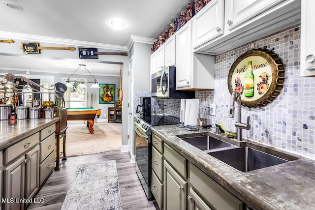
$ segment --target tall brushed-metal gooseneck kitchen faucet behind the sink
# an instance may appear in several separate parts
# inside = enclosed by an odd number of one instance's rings
[[[237,122],[235,122],[235,126],[236,126],[236,139],[237,141],[242,141],[243,139],[243,135],[242,135],[242,129],[246,129],[249,130],[251,128],[250,125],[250,116],[247,117],[247,123],[242,123],[242,103],[241,103],[241,93],[237,90],[234,90],[232,92],[232,97],[231,97],[231,104],[230,104],[230,108],[229,108],[229,113],[228,113],[228,117],[229,118],[234,118],[234,112],[235,112],[235,107],[234,107],[234,102],[235,99],[237,100]]]

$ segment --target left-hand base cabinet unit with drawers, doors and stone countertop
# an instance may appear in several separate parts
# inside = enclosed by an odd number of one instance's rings
[[[58,121],[0,120],[0,209],[26,209],[53,172]]]

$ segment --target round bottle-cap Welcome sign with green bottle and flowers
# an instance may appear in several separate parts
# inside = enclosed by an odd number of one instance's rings
[[[230,93],[241,93],[242,105],[261,107],[272,102],[284,85],[284,64],[267,49],[247,51],[234,61],[227,78]]]

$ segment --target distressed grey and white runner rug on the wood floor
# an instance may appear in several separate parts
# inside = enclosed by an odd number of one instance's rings
[[[122,210],[116,161],[78,165],[62,210]]]

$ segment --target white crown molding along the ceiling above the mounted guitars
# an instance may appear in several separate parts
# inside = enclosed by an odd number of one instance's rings
[[[6,31],[0,31],[0,37],[10,37],[10,39],[32,40],[32,41],[36,40],[38,42],[48,42],[48,43],[55,43],[55,44],[65,44],[65,45],[73,45],[73,46],[84,46],[84,47],[104,48],[104,49],[110,49],[110,50],[128,51],[127,47],[122,46],[122,45],[111,45],[111,44],[86,42],[86,41],[79,41],[79,40],[72,40],[72,39],[61,39],[61,38],[54,38],[54,37],[48,37],[48,36],[38,36],[38,35],[13,33],[13,32],[6,32]]]

